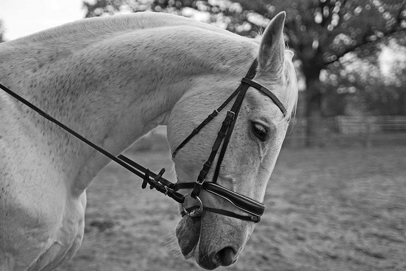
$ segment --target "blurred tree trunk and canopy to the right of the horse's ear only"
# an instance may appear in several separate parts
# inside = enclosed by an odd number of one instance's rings
[[[306,79],[306,116],[309,145],[320,133],[324,95],[320,73],[339,66],[348,53],[365,57],[378,49],[380,41],[406,29],[406,1],[378,0],[278,1],[287,11],[286,34],[303,65]]]

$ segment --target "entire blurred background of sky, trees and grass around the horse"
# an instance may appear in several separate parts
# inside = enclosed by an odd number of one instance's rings
[[[0,0],[0,40],[143,10],[248,37],[287,13],[296,118],[264,218],[237,264],[220,270],[406,270],[406,0]],[[170,169],[165,133],[127,155]],[[92,182],[83,245],[59,270],[200,270],[177,252],[176,204],[134,179],[110,164]]]

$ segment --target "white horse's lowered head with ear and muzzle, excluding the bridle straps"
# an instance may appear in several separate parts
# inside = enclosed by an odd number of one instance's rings
[[[258,202],[264,199],[266,185],[297,101],[293,53],[285,50],[283,39],[284,20],[284,12],[277,14],[260,39],[256,40],[255,59],[258,65],[252,80],[278,97],[286,108],[286,114],[269,96],[249,87],[216,178],[219,185]],[[200,77],[176,103],[167,125],[172,152],[188,132],[236,90],[244,74],[237,75],[233,68],[228,67],[230,71],[224,69],[224,73],[217,74],[214,79],[212,75]],[[226,109],[230,107],[231,104],[228,104]],[[179,183],[196,180],[212,151],[213,142],[226,116],[224,111],[205,125],[173,157]],[[208,181],[215,175],[218,157],[219,153],[207,173]],[[203,206],[246,215],[246,212],[236,208],[227,199],[205,190],[200,192],[199,199]],[[188,198],[185,203],[186,206],[193,204],[196,201],[192,198]],[[176,227],[176,236],[186,258],[194,257],[201,267],[212,270],[237,261],[254,225],[252,221],[203,211],[199,216],[183,216]]]

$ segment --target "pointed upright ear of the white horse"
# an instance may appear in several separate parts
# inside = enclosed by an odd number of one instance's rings
[[[278,73],[282,67],[285,52],[283,39],[285,17],[285,11],[279,12],[262,34],[258,54],[259,73]]]

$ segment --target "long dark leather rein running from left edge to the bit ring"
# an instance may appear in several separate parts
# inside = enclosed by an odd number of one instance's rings
[[[132,161],[128,157],[125,157],[124,155],[119,155],[118,157],[115,157],[114,155],[112,155],[111,153],[106,151],[105,149],[103,149],[100,146],[97,146],[96,144],[94,144],[91,141],[87,140],[86,138],[81,136],[79,133],[75,132],[74,130],[72,130],[71,128],[69,128],[68,126],[63,124],[62,122],[60,122],[57,119],[55,119],[54,117],[52,117],[51,115],[45,113],[43,110],[41,110],[40,108],[38,108],[37,106],[35,106],[31,102],[29,102],[28,100],[24,99],[23,97],[21,97],[17,93],[15,93],[12,90],[8,89],[7,87],[2,85],[1,83],[0,83],[0,89],[4,90],[6,93],[11,95],[15,99],[19,100],[20,102],[22,102],[23,104],[25,104],[26,106],[28,106],[29,108],[31,108],[32,110],[34,110],[35,112],[37,112],[38,114],[40,114],[41,116],[46,118],[47,120],[55,123],[56,125],[58,125],[62,129],[67,131],[68,133],[70,133],[73,136],[77,137],[82,142],[86,143],[87,145],[89,145],[90,147],[92,147],[93,149],[98,151],[99,153],[101,153],[104,156],[108,157],[109,159],[113,160],[114,162],[116,162],[120,166],[124,167],[125,169],[131,171],[132,173],[134,173],[138,177],[141,177],[144,180],[143,185],[142,185],[143,188],[145,188],[147,186],[147,183],[148,183],[148,184],[150,184],[151,189],[155,188],[158,191],[160,191],[161,193],[167,195],[170,198],[173,198],[175,201],[177,201],[179,203],[184,202],[185,198],[181,193],[176,192],[176,190],[171,189],[171,188],[168,187],[168,185],[170,185],[170,184],[173,185],[173,183],[166,180],[166,179],[164,179],[164,178],[162,178],[162,174],[165,172],[165,169],[162,169],[159,174],[155,174],[155,173],[151,172],[149,169],[146,169],[143,166],[141,166],[140,164],[137,164],[136,162]]]

